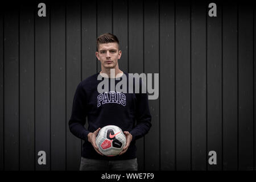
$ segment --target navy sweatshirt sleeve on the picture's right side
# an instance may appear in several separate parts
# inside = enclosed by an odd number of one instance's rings
[[[141,84],[140,87],[144,86]],[[133,136],[132,142],[137,140],[148,133],[151,127],[151,114],[148,106],[148,95],[147,93],[142,93],[140,88],[140,93],[135,93],[136,101],[136,120],[137,125],[131,130],[130,134]]]

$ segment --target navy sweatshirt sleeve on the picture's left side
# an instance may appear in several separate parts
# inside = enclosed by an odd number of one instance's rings
[[[76,137],[87,140],[89,131],[85,129],[86,121],[86,92],[80,84],[77,86],[73,99],[71,118],[69,119],[69,130]]]

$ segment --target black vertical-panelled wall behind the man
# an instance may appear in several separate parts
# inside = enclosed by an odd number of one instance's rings
[[[79,169],[82,141],[68,121],[77,85],[101,70],[94,53],[105,32],[119,38],[122,71],[159,73],[152,127],[137,140],[139,170],[255,168],[253,4],[43,2],[46,17],[40,2],[1,7],[1,170]],[[208,16],[210,2],[217,17]]]

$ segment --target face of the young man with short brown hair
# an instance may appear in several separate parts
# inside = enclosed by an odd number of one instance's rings
[[[117,43],[106,43],[99,45],[95,55],[97,59],[101,61],[101,65],[104,68],[115,68],[122,52],[118,50]]]

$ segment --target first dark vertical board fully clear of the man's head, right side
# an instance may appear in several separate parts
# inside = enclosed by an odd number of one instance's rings
[[[128,1],[129,73],[143,73],[143,1]],[[136,140],[138,169],[144,170],[144,137]]]

